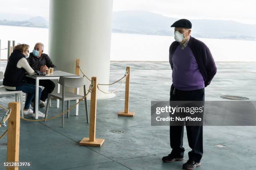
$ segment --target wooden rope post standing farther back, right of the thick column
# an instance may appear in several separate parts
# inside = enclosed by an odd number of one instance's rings
[[[126,71],[129,73],[125,80],[125,110],[118,112],[118,116],[133,117],[134,112],[129,112],[129,90],[130,90],[130,67],[126,67]]]

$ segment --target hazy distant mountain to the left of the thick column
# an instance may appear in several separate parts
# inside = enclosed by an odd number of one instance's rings
[[[49,24],[43,17],[38,16],[23,21],[0,20],[0,25],[48,28]]]

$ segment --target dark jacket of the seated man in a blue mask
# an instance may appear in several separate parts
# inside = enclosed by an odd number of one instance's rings
[[[48,68],[51,67],[56,70],[56,66],[51,62],[51,58],[47,54],[42,53],[41,57],[38,58],[31,52],[27,60],[33,70],[40,70],[42,65],[46,65]]]

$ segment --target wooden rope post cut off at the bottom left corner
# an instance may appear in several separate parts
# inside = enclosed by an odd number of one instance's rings
[[[7,136],[7,161],[19,161],[20,147],[20,102],[10,102],[9,108],[12,107],[12,112],[8,119],[8,136]],[[18,170],[17,167],[7,167],[6,170]]]

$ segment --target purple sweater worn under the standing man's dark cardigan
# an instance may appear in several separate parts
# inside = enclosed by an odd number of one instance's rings
[[[195,56],[189,46],[176,48],[172,57],[172,82],[179,90],[198,90],[205,87]]]

